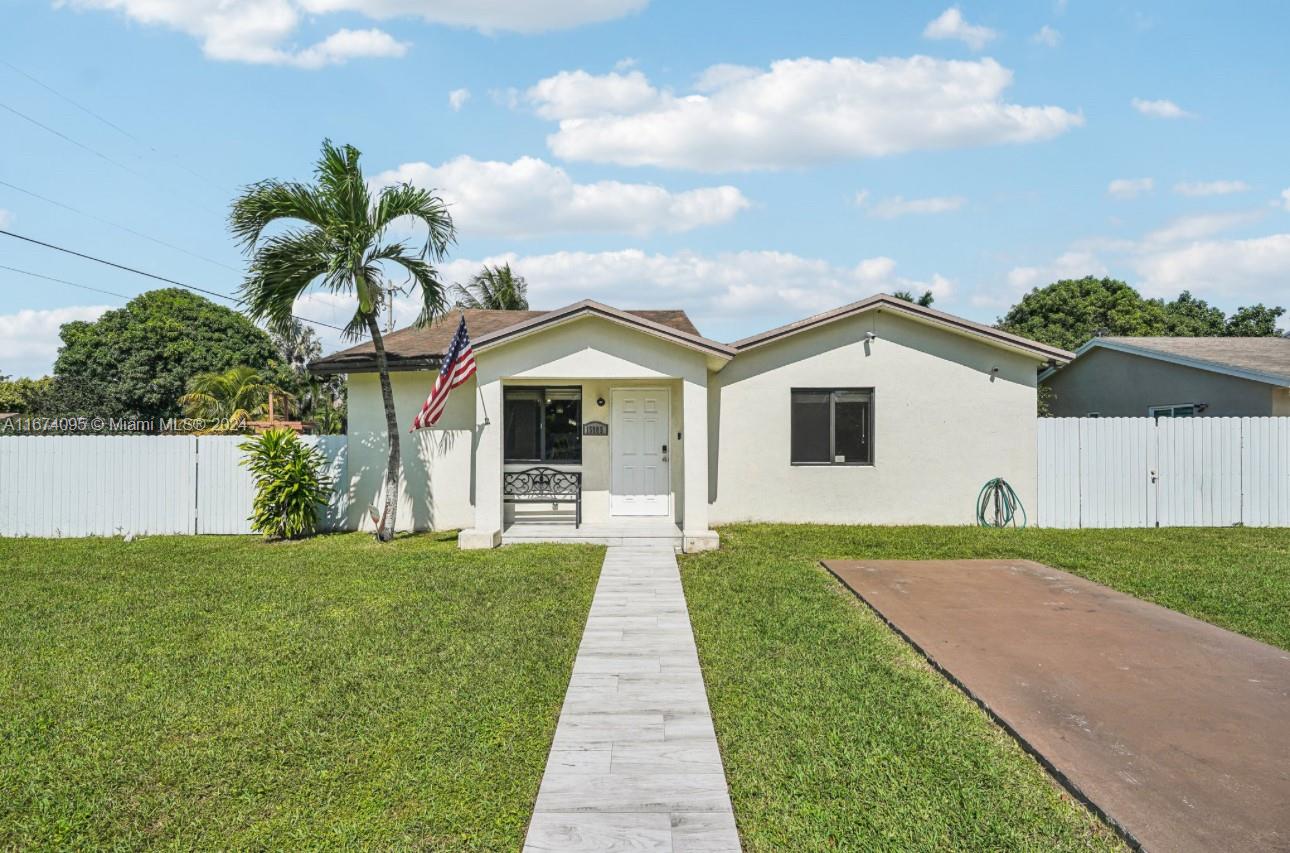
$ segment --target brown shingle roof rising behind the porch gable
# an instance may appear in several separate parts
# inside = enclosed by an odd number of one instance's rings
[[[453,310],[450,314],[439,317],[428,326],[408,326],[397,329],[386,336],[386,357],[391,369],[415,370],[421,368],[437,366],[448,346],[457,333],[457,323],[461,314],[466,315],[466,328],[470,329],[471,339],[477,341],[494,332],[508,329],[513,325],[541,317],[550,311],[491,311],[484,308]],[[698,337],[699,330],[690,323],[685,311],[626,311],[660,325],[670,326],[686,334]],[[357,346],[334,352],[319,359],[310,365],[313,373],[360,373],[375,369],[375,350],[370,341]]]

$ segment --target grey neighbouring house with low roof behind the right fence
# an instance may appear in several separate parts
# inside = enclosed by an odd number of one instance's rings
[[[1057,417],[1290,416],[1290,338],[1094,338],[1040,383]]]

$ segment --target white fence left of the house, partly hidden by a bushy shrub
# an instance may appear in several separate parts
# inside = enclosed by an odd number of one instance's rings
[[[250,533],[246,436],[0,437],[0,536]],[[337,488],[319,525],[344,524],[346,436],[302,436]]]

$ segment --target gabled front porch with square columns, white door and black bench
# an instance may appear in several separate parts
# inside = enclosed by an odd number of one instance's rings
[[[724,345],[586,311],[481,347],[475,525],[461,546],[716,547],[708,374],[729,360]]]

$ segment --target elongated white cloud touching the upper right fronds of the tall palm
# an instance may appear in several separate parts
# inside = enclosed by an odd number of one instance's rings
[[[671,192],[649,183],[574,183],[564,169],[537,157],[499,163],[461,156],[439,166],[406,163],[375,181],[436,188],[452,205],[462,234],[510,237],[689,231],[729,222],[749,205],[731,186]]]

